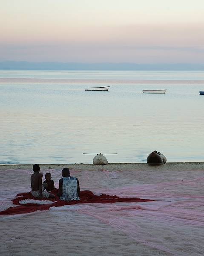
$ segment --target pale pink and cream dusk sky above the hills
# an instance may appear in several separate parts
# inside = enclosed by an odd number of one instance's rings
[[[0,0],[0,62],[204,63],[204,0]]]

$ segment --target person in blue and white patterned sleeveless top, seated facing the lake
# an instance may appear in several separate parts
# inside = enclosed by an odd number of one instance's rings
[[[57,196],[64,201],[80,200],[80,188],[78,178],[71,177],[69,168],[63,168],[62,179],[59,180]]]

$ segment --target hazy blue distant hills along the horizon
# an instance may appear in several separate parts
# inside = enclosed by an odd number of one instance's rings
[[[23,70],[204,70],[204,64],[136,64],[136,63],[78,63],[3,61],[0,69]]]

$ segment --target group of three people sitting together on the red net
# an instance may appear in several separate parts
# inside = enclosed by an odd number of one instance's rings
[[[31,176],[31,193],[35,198],[55,198],[50,193],[55,189],[54,181],[50,173],[45,174],[45,181],[42,183],[43,174],[40,173],[40,166],[33,165],[34,174]],[[46,190],[46,191],[45,191]],[[71,177],[69,168],[62,169],[62,178],[59,180],[57,196],[60,200],[71,201],[80,200],[79,181],[76,177]]]

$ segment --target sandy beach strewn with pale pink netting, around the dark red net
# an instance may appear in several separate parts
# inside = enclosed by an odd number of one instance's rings
[[[80,190],[153,199],[85,203],[0,216],[0,252],[26,255],[204,255],[204,162],[40,165],[55,187],[64,167]],[[30,191],[32,165],[0,165],[0,210]]]

